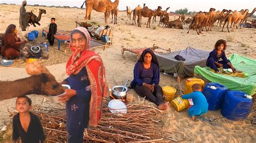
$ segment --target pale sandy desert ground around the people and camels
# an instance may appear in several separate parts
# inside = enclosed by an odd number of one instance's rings
[[[0,6],[0,33],[3,33],[9,24],[15,24],[19,26],[19,5],[1,5]],[[48,26],[50,18],[56,18],[56,24],[59,30],[72,30],[76,27],[76,20],[84,22],[85,10],[83,9],[63,9],[63,8],[46,8],[46,7],[34,7],[26,6],[26,11],[33,11],[38,15],[39,9],[45,9],[46,15],[42,15],[40,21],[41,26],[29,27],[29,31],[38,30],[42,32],[42,28]],[[104,23],[104,13],[92,12],[91,20]],[[173,17],[170,17],[173,19]],[[187,34],[188,25],[184,26],[184,30],[177,30],[174,28],[164,28],[157,26],[159,23],[159,17],[157,17],[157,24],[151,24],[151,28],[146,28],[147,18],[142,19],[142,27],[132,25],[132,21],[126,17],[126,12],[119,12],[118,24],[109,24],[113,28],[113,44],[105,51],[102,49],[96,49],[96,52],[102,57],[106,68],[106,77],[109,87],[113,85],[124,84],[127,77],[130,81],[133,78],[133,67],[136,63],[136,55],[130,52],[125,52],[124,56],[121,54],[121,47],[137,48],[137,47],[152,47],[156,44],[159,47],[172,51],[178,51],[185,49],[187,46],[191,46],[197,49],[204,49],[211,51],[213,45],[218,39],[227,40],[226,54],[230,56],[232,53],[238,53],[240,55],[247,56],[248,58],[256,59],[256,30],[255,29],[235,29],[235,32],[220,32],[221,28],[213,27],[213,31],[203,32],[204,34],[197,35],[196,31],[191,30]],[[111,17],[110,17],[111,22]],[[153,28],[156,27],[156,28]],[[224,31],[227,31],[226,28]],[[18,28],[18,33],[21,36],[26,35],[28,31],[22,32]],[[36,41],[29,41],[30,44],[36,44],[46,41],[44,37],[39,37]],[[40,62],[44,66],[48,66],[49,70],[55,75],[58,81],[63,80],[66,77],[65,74],[65,62],[68,59],[70,52],[64,53],[64,45],[57,49],[57,41],[53,47],[50,47],[49,59],[41,60]],[[17,60],[11,67],[0,67],[0,80],[16,80],[26,77],[25,73],[25,60]],[[10,76],[11,74],[11,76]],[[186,78],[182,79],[181,87],[184,88]],[[179,86],[176,82],[176,78],[172,75],[160,74],[160,85],[171,85],[179,90]],[[137,102],[142,101],[142,98],[138,99],[138,95],[134,90],[129,91],[134,95]],[[179,94],[177,92],[176,96]],[[32,95],[33,103],[41,104],[43,101],[42,96]],[[151,104],[147,101],[143,101],[144,104]],[[43,101],[43,105],[55,104]],[[156,106],[154,104],[151,104]],[[254,102],[255,106],[255,102]],[[0,101],[0,127],[10,122],[9,113],[14,110],[15,99],[9,99]],[[254,109],[255,110],[255,109]],[[251,120],[255,120],[256,113],[251,113],[244,121],[231,121],[228,119],[215,120],[217,125],[212,126],[205,121],[192,121],[188,118],[187,110],[176,112],[172,107],[167,111],[170,117],[170,123],[165,128],[173,132],[179,132],[173,135],[173,139],[185,140],[185,141],[204,141],[204,142],[255,142],[256,132],[255,125],[251,124]],[[208,111],[205,115],[207,118],[222,117],[219,111]]]

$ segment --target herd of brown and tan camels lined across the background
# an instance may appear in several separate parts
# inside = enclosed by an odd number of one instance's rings
[[[85,19],[91,18],[91,10],[95,9],[98,12],[104,12],[105,13],[105,24],[108,23],[108,19],[110,16],[110,13],[112,15],[112,23],[113,23],[113,15],[114,15],[114,24],[117,24],[117,15],[118,15],[118,4],[119,0],[116,0],[115,2],[111,2],[109,0],[86,0],[84,3],[86,3],[86,14]],[[185,15],[179,16],[178,19],[174,17],[174,20],[170,21],[170,13],[167,11],[170,9],[166,8],[166,10],[161,10],[161,6],[158,6],[156,10],[151,10],[145,4],[143,5],[143,8],[138,5],[133,10],[129,8],[129,6],[126,6],[126,13],[128,20],[131,20],[131,15],[133,13],[132,18],[132,25],[133,22],[136,25],[136,17],[137,18],[137,25],[141,27],[142,17],[147,17],[147,26],[150,27],[151,18],[153,17],[152,23],[156,22],[156,17],[160,17],[159,24],[163,24],[162,27],[175,27],[175,28],[183,28],[184,24],[190,24],[188,32],[190,29],[193,28],[196,29],[197,34],[201,33],[204,30],[206,31],[212,31],[213,25],[215,22],[217,22],[217,26],[221,27],[221,24],[224,22],[222,31],[224,29],[224,26],[226,25],[227,31],[230,32],[228,29],[228,26],[233,24],[232,32],[234,31],[234,28],[237,27],[237,25],[240,25],[245,21],[246,18],[251,17],[253,13],[255,12],[255,9],[251,13],[248,13],[248,9],[246,10],[240,10],[240,11],[232,11],[232,10],[226,10],[223,9],[222,11],[215,11],[214,8],[211,8],[208,12],[202,12],[199,11],[196,15],[192,16],[191,18],[188,17],[185,19]],[[207,28],[208,26],[208,28]],[[187,32],[187,33],[188,33]]]

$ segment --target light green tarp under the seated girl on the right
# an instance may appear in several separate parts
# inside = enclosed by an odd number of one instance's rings
[[[244,91],[248,95],[256,94],[256,60],[238,54],[232,54],[229,60],[237,70],[242,70],[249,76],[242,78],[216,74],[210,71],[209,67],[201,68],[200,66],[194,67],[194,73],[205,77],[208,81],[220,83],[229,90]]]

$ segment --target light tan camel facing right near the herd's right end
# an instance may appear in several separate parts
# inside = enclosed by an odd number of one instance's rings
[[[231,32],[234,32],[234,27],[237,25],[237,22],[241,19],[243,19],[246,14],[248,13],[248,9],[245,10],[244,14],[242,15],[241,12],[238,12],[237,10],[235,10],[233,13],[229,14],[227,16],[227,18],[225,19],[225,23],[223,25],[223,28],[225,26],[225,24],[227,23],[227,31],[230,32],[230,30],[228,30],[228,24],[230,24],[230,22],[234,23],[233,24],[233,28],[231,30]],[[223,31],[223,28],[221,31]]]

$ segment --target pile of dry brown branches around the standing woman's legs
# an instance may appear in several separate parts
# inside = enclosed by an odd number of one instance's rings
[[[170,133],[163,131],[166,113],[149,105],[126,104],[127,113],[113,114],[103,103],[102,120],[97,127],[89,127],[84,132],[84,141],[159,141],[172,140]],[[46,141],[65,142],[65,109],[34,106],[34,112],[41,119]],[[169,134],[169,135],[168,135]]]

